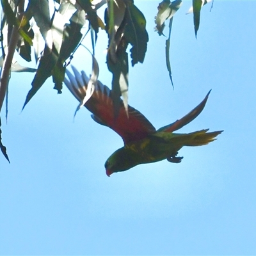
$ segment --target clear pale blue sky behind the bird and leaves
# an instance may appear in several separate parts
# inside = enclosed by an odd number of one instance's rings
[[[143,65],[130,68],[129,104],[159,128],[204,111],[180,132],[225,130],[205,147],[182,148],[182,163],[139,165],[107,177],[106,159],[122,139],[93,122],[51,79],[20,113],[33,74],[12,74],[0,157],[1,255],[256,254],[253,1],[215,1],[202,10],[198,39],[184,2],[172,31],[172,89],[165,38],[154,32],[158,2],[138,1],[150,41]],[[100,32],[100,81],[110,86]],[[166,31],[167,35],[167,31]],[[90,46],[90,44],[88,44]],[[90,72],[84,49],[72,65]],[[4,113],[1,118],[3,120]]]

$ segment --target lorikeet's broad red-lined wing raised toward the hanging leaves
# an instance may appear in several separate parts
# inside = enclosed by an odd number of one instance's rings
[[[72,92],[79,102],[84,99],[89,78],[84,72],[79,73],[76,68],[72,67],[74,75],[68,70],[64,83]],[[111,90],[104,84],[97,82],[92,97],[84,104],[84,106],[93,113],[92,118],[95,122],[106,125],[117,132],[124,143],[130,141],[141,140],[156,132],[155,127],[143,116],[138,110],[128,106],[128,113],[124,108],[124,103],[120,99],[120,109],[118,116],[114,115],[113,100],[111,98]]]

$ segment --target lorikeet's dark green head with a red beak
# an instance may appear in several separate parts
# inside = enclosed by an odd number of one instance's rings
[[[114,152],[111,156],[108,157],[105,168],[106,175],[110,177],[110,175],[114,172],[124,172],[129,170],[136,164],[132,161],[131,154],[127,148],[119,148]]]

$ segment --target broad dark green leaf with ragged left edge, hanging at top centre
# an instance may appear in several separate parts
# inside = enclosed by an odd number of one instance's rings
[[[127,24],[124,30],[124,37],[132,45],[131,58],[133,67],[138,62],[143,63],[147,52],[148,33],[146,19],[133,3],[127,3],[125,19]]]

